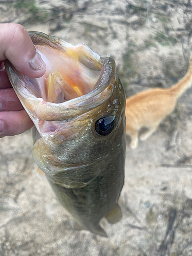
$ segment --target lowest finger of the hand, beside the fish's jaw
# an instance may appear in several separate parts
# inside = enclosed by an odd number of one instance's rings
[[[0,138],[23,133],[33,126],[25,110],[0,112]]]

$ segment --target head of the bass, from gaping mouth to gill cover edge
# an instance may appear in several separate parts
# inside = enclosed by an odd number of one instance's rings
[[[29,35],[46,63],[45,75],[29,78],[8,60],[5,67],[36,127],[33,157],[55,182],[62,176],[63,186],[84,186],[124,145],[125,94],[115,61],[84,44],[72,46],[40,32]],[[87,169],[86,178],[72,182],[70,174],[79,169]]]

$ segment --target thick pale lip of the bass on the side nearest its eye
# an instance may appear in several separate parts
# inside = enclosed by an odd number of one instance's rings
[[[33,96],[36,109],[38,109],[38,105],[41,108],[40,114],[37,115],[36,112],[37,117],[44,121],[66,120],[83,115],[108,100],[114,91],[115,61],[112,58],[102,58],[101,61],[103,64],[99,79],[95,84],[95,89],[90,93],[62,103],[52,103]],[[25,105],[24,108],[26,109]]]

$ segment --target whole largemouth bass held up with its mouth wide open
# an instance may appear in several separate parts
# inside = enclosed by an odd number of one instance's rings
[[[106,236],[99,221],[121,218],[125,94],[115,61],[88,46],[29,32],[46,73],[29,78],[6,60],[12,86],[34,122],[32,154],[60,203],[82,229]]]

